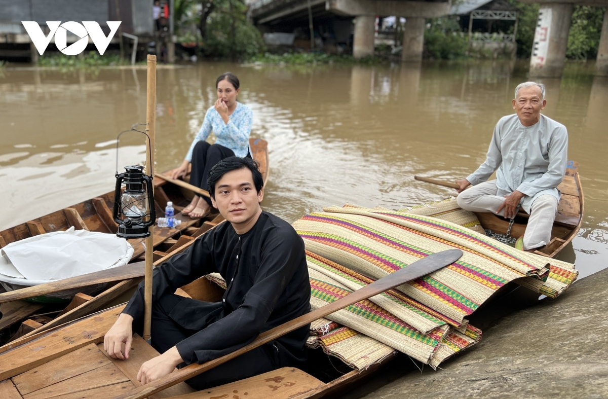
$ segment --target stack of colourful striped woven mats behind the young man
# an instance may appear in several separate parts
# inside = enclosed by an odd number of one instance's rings
[[[435,368],[481,339],[466,317],[506,283],[556,297],[578,274],[569,263],[486,237],[454,200],[400,211],[328,207],[294,227],[306,245],[313,309],[429,254],[463,251],[440,271],[313,323],[309,347],[359,370],[395,350]]]

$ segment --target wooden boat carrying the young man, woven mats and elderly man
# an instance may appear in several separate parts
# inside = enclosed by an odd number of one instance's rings
[[[545,256],[554,257],[572,241],[582,221],[583,196],[575,163],[569,164],[568,176],[561,186],[562,201],[553,229],[554,249]],[[508,223],[500,218],[483,218],[482,225],[505,232]],[[491,216],[491,215],[490,215]],[[523,232],[525,216],[520,216],[513,230],[514,237]],[[191,241],[192,242],[192,241]],[[551,246],[550,243],[550,246]],[[188,246],[186,243],[183,247]],[[176,251],[179,251],[178,248]],[[216,301],[223,290],[204,277],[183,286],[176,293],[195,299]],[[537,295],[536,295],[537,297]],[[140,365],[157,355],[145,341],[136,337],[133,355],[128,361],[111,359],[103,352],[103,336],[116,321],[123,305],[99,311],[85,319],[55,326],[0,348],[0,397],[10,399],[38,398],[103,398],[126,394],[140,386],[136,375]],[[316,351],[316,352],[315,352]],[[335,396],[352,389],[353,383],[378,370],[374,364],[365,370],[349,369],[334,358],[331,367],[337,372],[326,373],[320,359],[327,356],[320,349],[311,350],[311,363],[303,370],[283,368],[237,381],[221,387],[192,392],[184,383],[149,395],[150,398],[219,399],[268,398],[304,399]],[[315,355],[316,353],[316,355]],[[385,364],[395,354],[385,359]],[[341,374],[341,375],[340,375]]]

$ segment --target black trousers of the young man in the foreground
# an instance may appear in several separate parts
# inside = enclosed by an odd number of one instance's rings
[[[171,347],[178,342],[183,341],[198,332],[197,330],[187,330],[184,327],[181,327],[181,325],[168,316],[168,314],[171,313],[171,310],[179,304],[180,299],[181,297],[175,294],[164,295],[152,305],[152,325],[150,333],[152,346],[159,353],[167,352],[168,349],[171,349]],[[141,331],[136,332],[141,334]],[[201,390],[243,380],[243,378],[249,378],[277,369],[277,359],[273,359],[272,354],[268,353],[268,350],[268,345],[250,350],[249,352],[238,356],[238,358],[220,364],[185,382],[194,389]],[[182,364],[181,366],[185,366],[185,364]]]

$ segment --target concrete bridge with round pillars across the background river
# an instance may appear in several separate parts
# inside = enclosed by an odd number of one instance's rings
[[[477,0],[465,0],[475,2]],[[568,33],[572,24],[574,5],[608,7],[608,0],[520,0],[540,3],[539,17],[530,58],[530,77],[561,77],[564,71]],[[406,18],[403,34],[402,61],[420,61],[424,45],[424,19],[438,18],[449,13],[451,1],[409,0],[258,0],[250,4],[250,16],[264,29],[272,26],[278,31],[292,32],[294,26],[313,30],[313,20],[345,21],[349,29],[354,18],[353,56],[373,54],[376,16]],[[604,15],[595,74],[608,76],[608,12]]]

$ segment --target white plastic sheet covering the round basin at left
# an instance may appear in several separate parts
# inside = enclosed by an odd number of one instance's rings
[[[0,281],[37,285],[126,265],[133,248],[114,234],[71,227],[10,243],[0,255]]]

